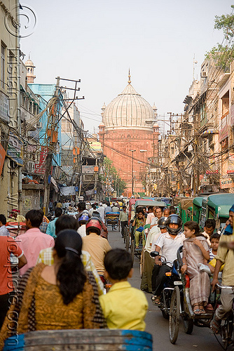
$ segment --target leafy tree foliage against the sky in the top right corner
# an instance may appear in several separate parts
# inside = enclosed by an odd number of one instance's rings
[[[234,5],[230,6],[234,9]],[[226,43],[219,44],[205,54],[205,58],[212,57],[216,66],[226,71],[234,60],[234,15],[233,11],[227,15],[216,15],[214,18],[214,29],[222,30]]]

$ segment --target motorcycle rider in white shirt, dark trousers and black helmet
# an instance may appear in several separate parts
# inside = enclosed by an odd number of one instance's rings
[[[172,214],[166,221],[167,232],[161,234],[156,244],[156,251],[161,251],[162,256],[167,260],[167,264],[163,265],[160,256],[155,258],[155,266],[153,267],[153,275],[156,277],[156,289],[153,293],[152,300],[160,303],[160,294],[163,291],[163,285],[167,279],[165,273],[170,272],[172,269],[173,261],[177,259],[177,250],[185,240],[184,234],[181,232],[182,220],[179,216]]]

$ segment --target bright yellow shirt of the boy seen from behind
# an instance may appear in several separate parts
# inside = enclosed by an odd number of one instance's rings
[[[99,301],[109,329],[144,331],[148,302],[144,293],[129,282],[113,284],[106,295],[99,296]]]

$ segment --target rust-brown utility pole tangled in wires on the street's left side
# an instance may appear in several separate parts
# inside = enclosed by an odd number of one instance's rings
[[[49,176],[52,168],[53,161],[53,151],[54,147],[57,144],[57,135],[55,133],[55,128],[57,128],[57,105],[58,105],[58,95],[60,89],[60,77],[57,77],[57,83],[55,86],[55,95],[57,98],[53,107],[50,108],[49,117],[48,117],[48,125],[46,128],[46,133],[48,135],[48,154],[46,157],[46,173],[45,173],[45,190],[44,190],[44,201],[43,201],[43,211],[46,215],[48,213],[48,205],[49,205],[49,197],[50,197],[50,180]]]

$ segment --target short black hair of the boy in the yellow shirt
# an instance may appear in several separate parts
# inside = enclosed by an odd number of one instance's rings
[[[111,279],[122,280],[128,277],[133,262],[130,253],[123,249],[113,249],[106,253],[104,266]]]

